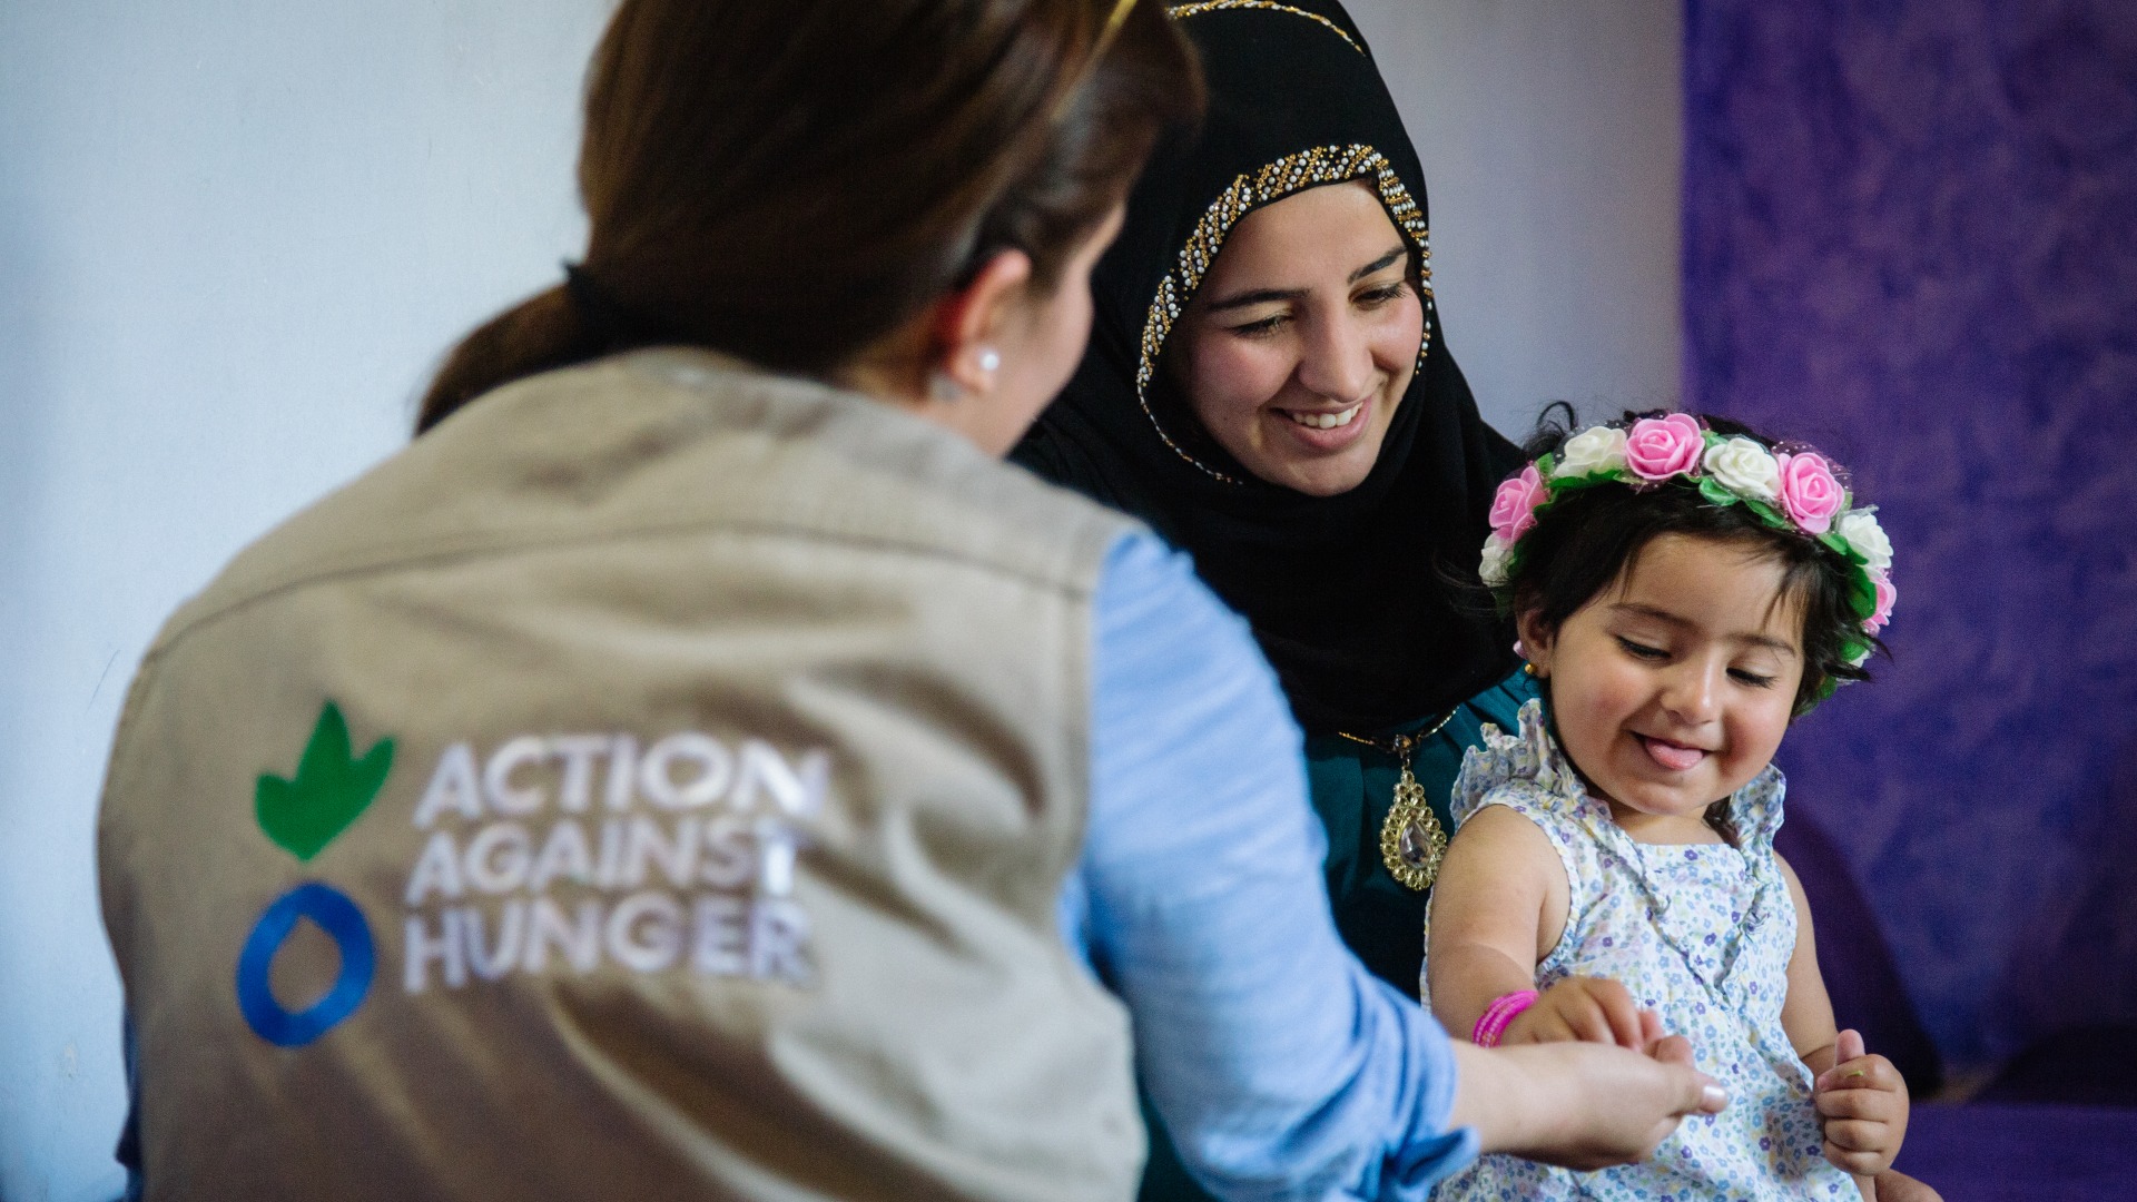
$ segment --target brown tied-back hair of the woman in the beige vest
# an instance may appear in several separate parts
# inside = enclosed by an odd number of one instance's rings
[[[624,0],[586,88],[586,263],[462,340],[417,432],[648,342],[825,374],[1007,248],[1051,287],[1165,124],[1201,107],[1160,0],[1113,17],[1113,0]]]

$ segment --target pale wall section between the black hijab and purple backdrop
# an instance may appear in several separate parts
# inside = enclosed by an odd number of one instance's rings
[[[1447,344],[1524,436],[1673,406],[1682,0],[1348,0],[1425,163]]]

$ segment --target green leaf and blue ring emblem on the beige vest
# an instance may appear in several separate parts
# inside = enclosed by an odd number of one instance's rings
[[[393,740],[380,738],[363,755],[348,742],[348,721],[327,702],[291,779],[263,772],[252,791],[261,832],[301,862],[310,862],[350,823],[363,817],[393,770]],[[276,952],[310,918],[333,939],[342,971],[325,997],[306,1010],[284,1010],[269,984]],[[237,1010],[252,1033],[280,1048],[318,1039],[363,1005],[378,950],[372,928],[348,894],[306,881],[276,898],[237,954]]]

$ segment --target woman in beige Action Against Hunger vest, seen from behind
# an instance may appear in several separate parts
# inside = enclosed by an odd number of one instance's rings
[[[1421,1198],[1716,1108],[1455,1048],[1299,734],[1000,456],[1192,60],[1145,0],[626,0],[568,280],[162,629],[100,815],[147,1198]],[[1340,616],[1331,616],[1340,620]]]

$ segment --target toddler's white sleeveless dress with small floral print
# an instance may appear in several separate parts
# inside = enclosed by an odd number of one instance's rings
[[[1455,823],[1483,806],[1528,817],[1573,885],[1566,933],[1537,965],[1537,988],[1571,975],[1622,982],[1693,1042],[1699,1069],[1729,1089],[1729,1108],[1686,1119],[1645,1164],[1571,1172],[1487,1155],[1434,1198],[1857,1198],[1855,1181],[1821,1153],[1810,1069],[1780,1029],[1795,950],[1795,903],[1774,860],[1782,791],[1780,770],[1767,766],[1731,798],[1742,847],[1635,843],[1588,796],[1541,702],[1522,706],[1519,738],[1483,727],[1483,746],[1455,779]]]

